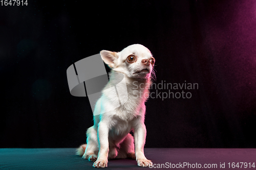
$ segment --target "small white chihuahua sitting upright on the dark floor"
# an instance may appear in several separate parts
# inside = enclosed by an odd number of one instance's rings
[[[95,105],[94,126],[87,130],[87,144],[77,149],[77,155],[94,161],[94,167],[107,167],[108,159],[114,158],[132,158],[136,159],[138,166],[152,166],[152,161],[144,156],[144,103],[148,98],[151,77],[155,75],[155,59],[141,44],[127,46],[118,53],[102,50],[100,55],[112,68],[110,81]],[[120,75],[125,81],[119,81]],[[108,88],[117,83],[118,87],[124,88],[118,91],[119,102],[114,95],[116,91]],[[124,95],[122,91],[126,92],[125,102],[120,102]],[[116,103],[120,104],[119,107]]]

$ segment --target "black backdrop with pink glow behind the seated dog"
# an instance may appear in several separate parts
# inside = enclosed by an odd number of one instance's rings
[[[191,99],[148,100],[145,147],[256,147],[256,1],[28,0],[0,16],[1,148],[86,142],[92,110],[67,68],[134,43],[156,58],[156,83],[199,84]]]

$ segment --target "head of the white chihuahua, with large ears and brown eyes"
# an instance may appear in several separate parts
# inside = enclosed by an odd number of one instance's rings
[[[113,70],[130,78],[150,78],[155,64],[150,50],[141,44],[127,46],[118,53],[102,50],[100,55]]]

